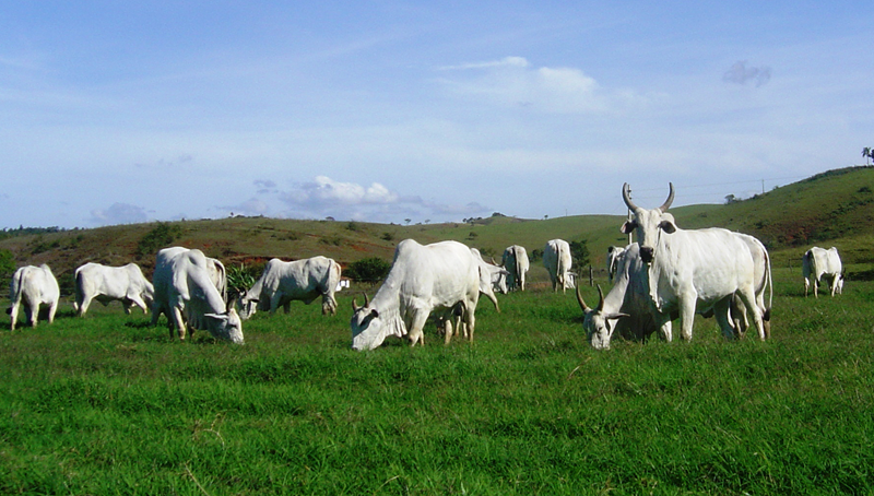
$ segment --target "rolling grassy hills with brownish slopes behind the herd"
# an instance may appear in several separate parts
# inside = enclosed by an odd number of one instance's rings
[[[676,194],[682,198],[683,190]],[[829,170],[748,200],[682,206],[671,212],[683,228],[719,226],[757,236],[769,247],[775,264],[798,263],[804,250],[813,245],[837,246],[848,264],[861,264],[858,271],[867,271],[864,265],[874,263],[870,249],[874,244],[870,229],[874,224],[872,167]],[[76,267],[88,261],[116,265],[135,261],[151,274],[154,252],[161,246],[200,248],[226,264],[323,255],[346,265],[367,257],[390,260],[397,243],[405,238],[420,243],[454,239],[495,258],[513,244],[524,246],[530,252],[542,249],[553,238],[584,239],[592,264],[600,269],[607,246],[627,243],[618,231],[623,221],[618,215],[522,220],[495,214],[470,223],[402,226],[232,217],[14,236],[0,240],[0,248],[11,250],[19,265],[48,263],[60,280],[70,277]],[[154,246],[145,243],[161,229],[170,232],[166,243]],[[532,264],[535,280],[540,269],[539,263]]]

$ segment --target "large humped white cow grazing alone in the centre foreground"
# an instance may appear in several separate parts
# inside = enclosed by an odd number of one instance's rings
[[[405,239],[394,249],[389,275],[373,302],[366,295],[363,307],[352,300],[352,347],[374,350],[389,335],[408,335],[411,346],[424,345],[423,328],[432,312],[445,323],[460,314],[473,341],[479,298],[480,265],[470,248],[457,241],[422,246]],[[451,332],[444,334],[449,343]]]

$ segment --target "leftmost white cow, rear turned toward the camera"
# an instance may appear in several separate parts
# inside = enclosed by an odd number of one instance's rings
[[[39,306],[48,305],[48,323],[55,321],[61,291],[51,269],[45,263],[39,267],[26,265],[15,271],[9,285],[11,306],[7,314],[12,318],[10,329],[15,330],[19,319],[19,307],[24,303],[24,317],[32,327],[36,327],[39,318]]]

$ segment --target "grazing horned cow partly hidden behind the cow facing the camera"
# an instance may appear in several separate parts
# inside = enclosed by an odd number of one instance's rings
[[[616,257],[616,283],[606,297],[598,286],[599,302],[590,308],[577,285],[577,303],[583,314],[586,338],[595,350],[609,350],[614,333],[625,339],[646,340],[661,329],[671,334],[671,320],[663,319],[649,297],[648,267],[640,259],[637,243],[619,248]]]

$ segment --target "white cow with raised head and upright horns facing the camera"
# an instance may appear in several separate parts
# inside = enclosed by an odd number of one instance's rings
[[[712,308],[723,335],[733,339],[734,326],[729,321],[731,298],[727,296],[736,294],[764,340],[763,314],[756,304],[755,262],[747,241],[727,229],[677,227],[668,213],[674,200],[673,184],[668,200],[653,210],[637,206],[628,190],[628,184],[623,185],[623,200],[634,219],[623,224],[622,232],[637,233],[640,259],[649,265],[650,298],[662,321],[677,311],[681,336],[690,340],[695,312]]]

